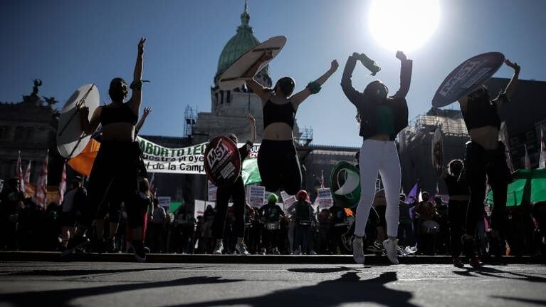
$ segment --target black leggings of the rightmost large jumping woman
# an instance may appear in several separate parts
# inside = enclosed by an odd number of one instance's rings
[[[496,150],[484,150],[476,142],[466,143],[465,168],[463,175],[470,188],[470,200],[466,213],[466,234],[473,236],[476,223],[483,219],[483,200],[485,199],[485,184],[493,189],[493,212],[490,227],[503,229],[505,222],[506,193],[508,183],[512,181],[510,170],[506,165],[505,146],[499,142]],[[485,177],[487,175],[487,177]]]

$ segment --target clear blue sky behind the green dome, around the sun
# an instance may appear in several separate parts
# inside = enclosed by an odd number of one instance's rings
[[[408,0],[409,1],[409,0]],[[419,0],[416,0],[419,1]],[[76,88],[95,83],[101,102],[114,77],[130,82],[137,43],[147,38],[143,105],[152,107],[145,135],[182,136],[184,109],[211,110],[210,88],[222,48],[236,33],[243,0],[0,1],[0,101],[19,102],[40,78],[40,95],[61,108]],[[521,79],[546,80],[546,1],[439,0],[440,18],[428,41],[411,51],[414,60],[406,99],[409,119],[426,113],[443,78],[471,56],[500,51],[522,66]],[[258,40],[288,41],[270,63],[273,80],[292,76],[302,89],[330,68],[340,68],[317,95],[300,105],[300,127],[313,128],[317,145],[359,146],[355,107],[340,87],[353,52],[382,67],[376,77],[362,66],[353,85],[363,90],[379,78],[393,92],[399,61],[371,33],[370,1],[250,0],[250,25]],[[419,12],[412,14],[415,18]],[[392,18],[385,14],[384,18]],[[495,77],[510,78],[503,66]],[[453,108],[453,107],[451,107]]]

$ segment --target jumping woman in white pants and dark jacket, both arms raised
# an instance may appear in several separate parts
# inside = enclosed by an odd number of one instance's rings
[[[363,93],[352,87],[352,71],[355,70],[357,60],[364,63],[366,59],[364,54],[353,53],[347,59],[341,80],[343,92],[357,107],[359,135],[363,140],[359,158],[362,192],[357,208],[355,240],[352,242],[353,257],[357,264],[364,264],[364,229],[372,207],[378,173],[381,175],[387,198],[385,217],[388,239],[383,241],[383,246],[389,260],[393,264],[398,264],[397,233],[401,174],[394,139],[398,132],[408,125],[406,94],[411,82],[412,61],[401,51],[398,51],[396,56],[401,61],[400,89],[393,96],[388,96],[387,86],[379,80],[369,83]]]

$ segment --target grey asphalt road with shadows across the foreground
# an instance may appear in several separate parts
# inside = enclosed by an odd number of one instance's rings
[[[546,306],[546,266],[2,262],[0,306]]]

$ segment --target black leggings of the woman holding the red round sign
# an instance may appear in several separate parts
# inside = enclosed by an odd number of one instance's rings
[[[243,178],[239,176],[236,182],[229,187],[218,187],[216,190],[216,216],[213,224],[216,239],[224,238],[229,197],[233,198],[233,206],[235,207],[235,227],[233,231],[239,238],[243,238],[245,235],[245,187]]]

